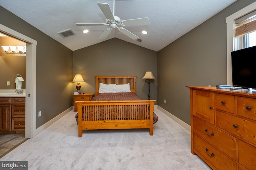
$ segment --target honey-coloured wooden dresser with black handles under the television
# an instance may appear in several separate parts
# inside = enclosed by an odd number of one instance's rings
[[[190,88],[191,152],[212,169],[256,169],[256,92]]]

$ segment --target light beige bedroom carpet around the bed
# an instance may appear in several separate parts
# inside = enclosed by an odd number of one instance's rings
[[[210,170],[190,152],[190,132],[156,109],[148,129],[83,131],[73,111],[0,160],[27,160],[29,170]]]

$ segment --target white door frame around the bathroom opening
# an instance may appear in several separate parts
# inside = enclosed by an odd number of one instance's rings
[[[36,45],[37,41],[0,24],[0,31],[26,42],[26,124],[25,137],[36,134]]]

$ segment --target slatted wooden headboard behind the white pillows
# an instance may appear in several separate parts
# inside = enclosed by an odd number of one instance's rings
[[[99,93],[100,83],[127,84],[130,83],[131,92],[135,93],[136,76],[95,76],[96,95]]]

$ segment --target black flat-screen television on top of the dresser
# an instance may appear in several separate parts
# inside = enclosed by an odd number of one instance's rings
[[[256,89],[256,46],[231,52],[232,83]]]

